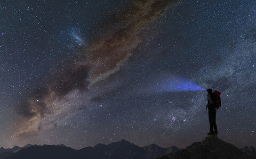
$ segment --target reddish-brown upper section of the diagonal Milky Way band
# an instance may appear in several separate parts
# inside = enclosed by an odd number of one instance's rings
[[[141,31],[177,2],[131,1],[129,8],[107,25],[105,35],[85,49],[81,64],[92,66],[89,81],[95,83],[117,72],[142,42]]]

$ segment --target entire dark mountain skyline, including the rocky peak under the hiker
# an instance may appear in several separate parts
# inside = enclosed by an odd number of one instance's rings
[[[162,156],[162,157],[161,157]],[[162,148],[156,144],[139,147],[126,140],[108,145],[98,144],[79,150],[65,145],[26,145],[23,147],[0,148],[0,159],[29,158],[90,158],[90,159],[170,159],[170,158],[256,158],[254,147],[237,148],[217,137],[206,137],[201,142],[193,143],[185,149],[176,146]]]

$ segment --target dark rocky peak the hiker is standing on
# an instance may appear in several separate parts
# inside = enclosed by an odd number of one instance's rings
[[[158,159],[174,158],[256,158],[256,153],[245,152],[236,146],[226,143],[216,137],[206,137],[202,142],[193,143],[186,149],[176,153],[166,154]]]

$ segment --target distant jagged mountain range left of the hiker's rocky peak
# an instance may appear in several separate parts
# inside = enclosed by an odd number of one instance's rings
[[[20,149],[18,152],[11,154],[6,159],[29,159],[29,158],[90,158],[90,159],[114,159],[114,158],[131,158],[131,159],[155,159],[169,152],[181,150],[175,146],[162,148],[155,144],[139,147],[131,144],[129,141],[121,140],[109,145],[98,144],[94,147],[85,147],[79,150],[66,147],[64,145],[43,145],[30,146]]]

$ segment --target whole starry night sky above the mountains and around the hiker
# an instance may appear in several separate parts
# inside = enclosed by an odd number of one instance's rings
[[[256,146],[256,2],[0,1],[0,146]]]

